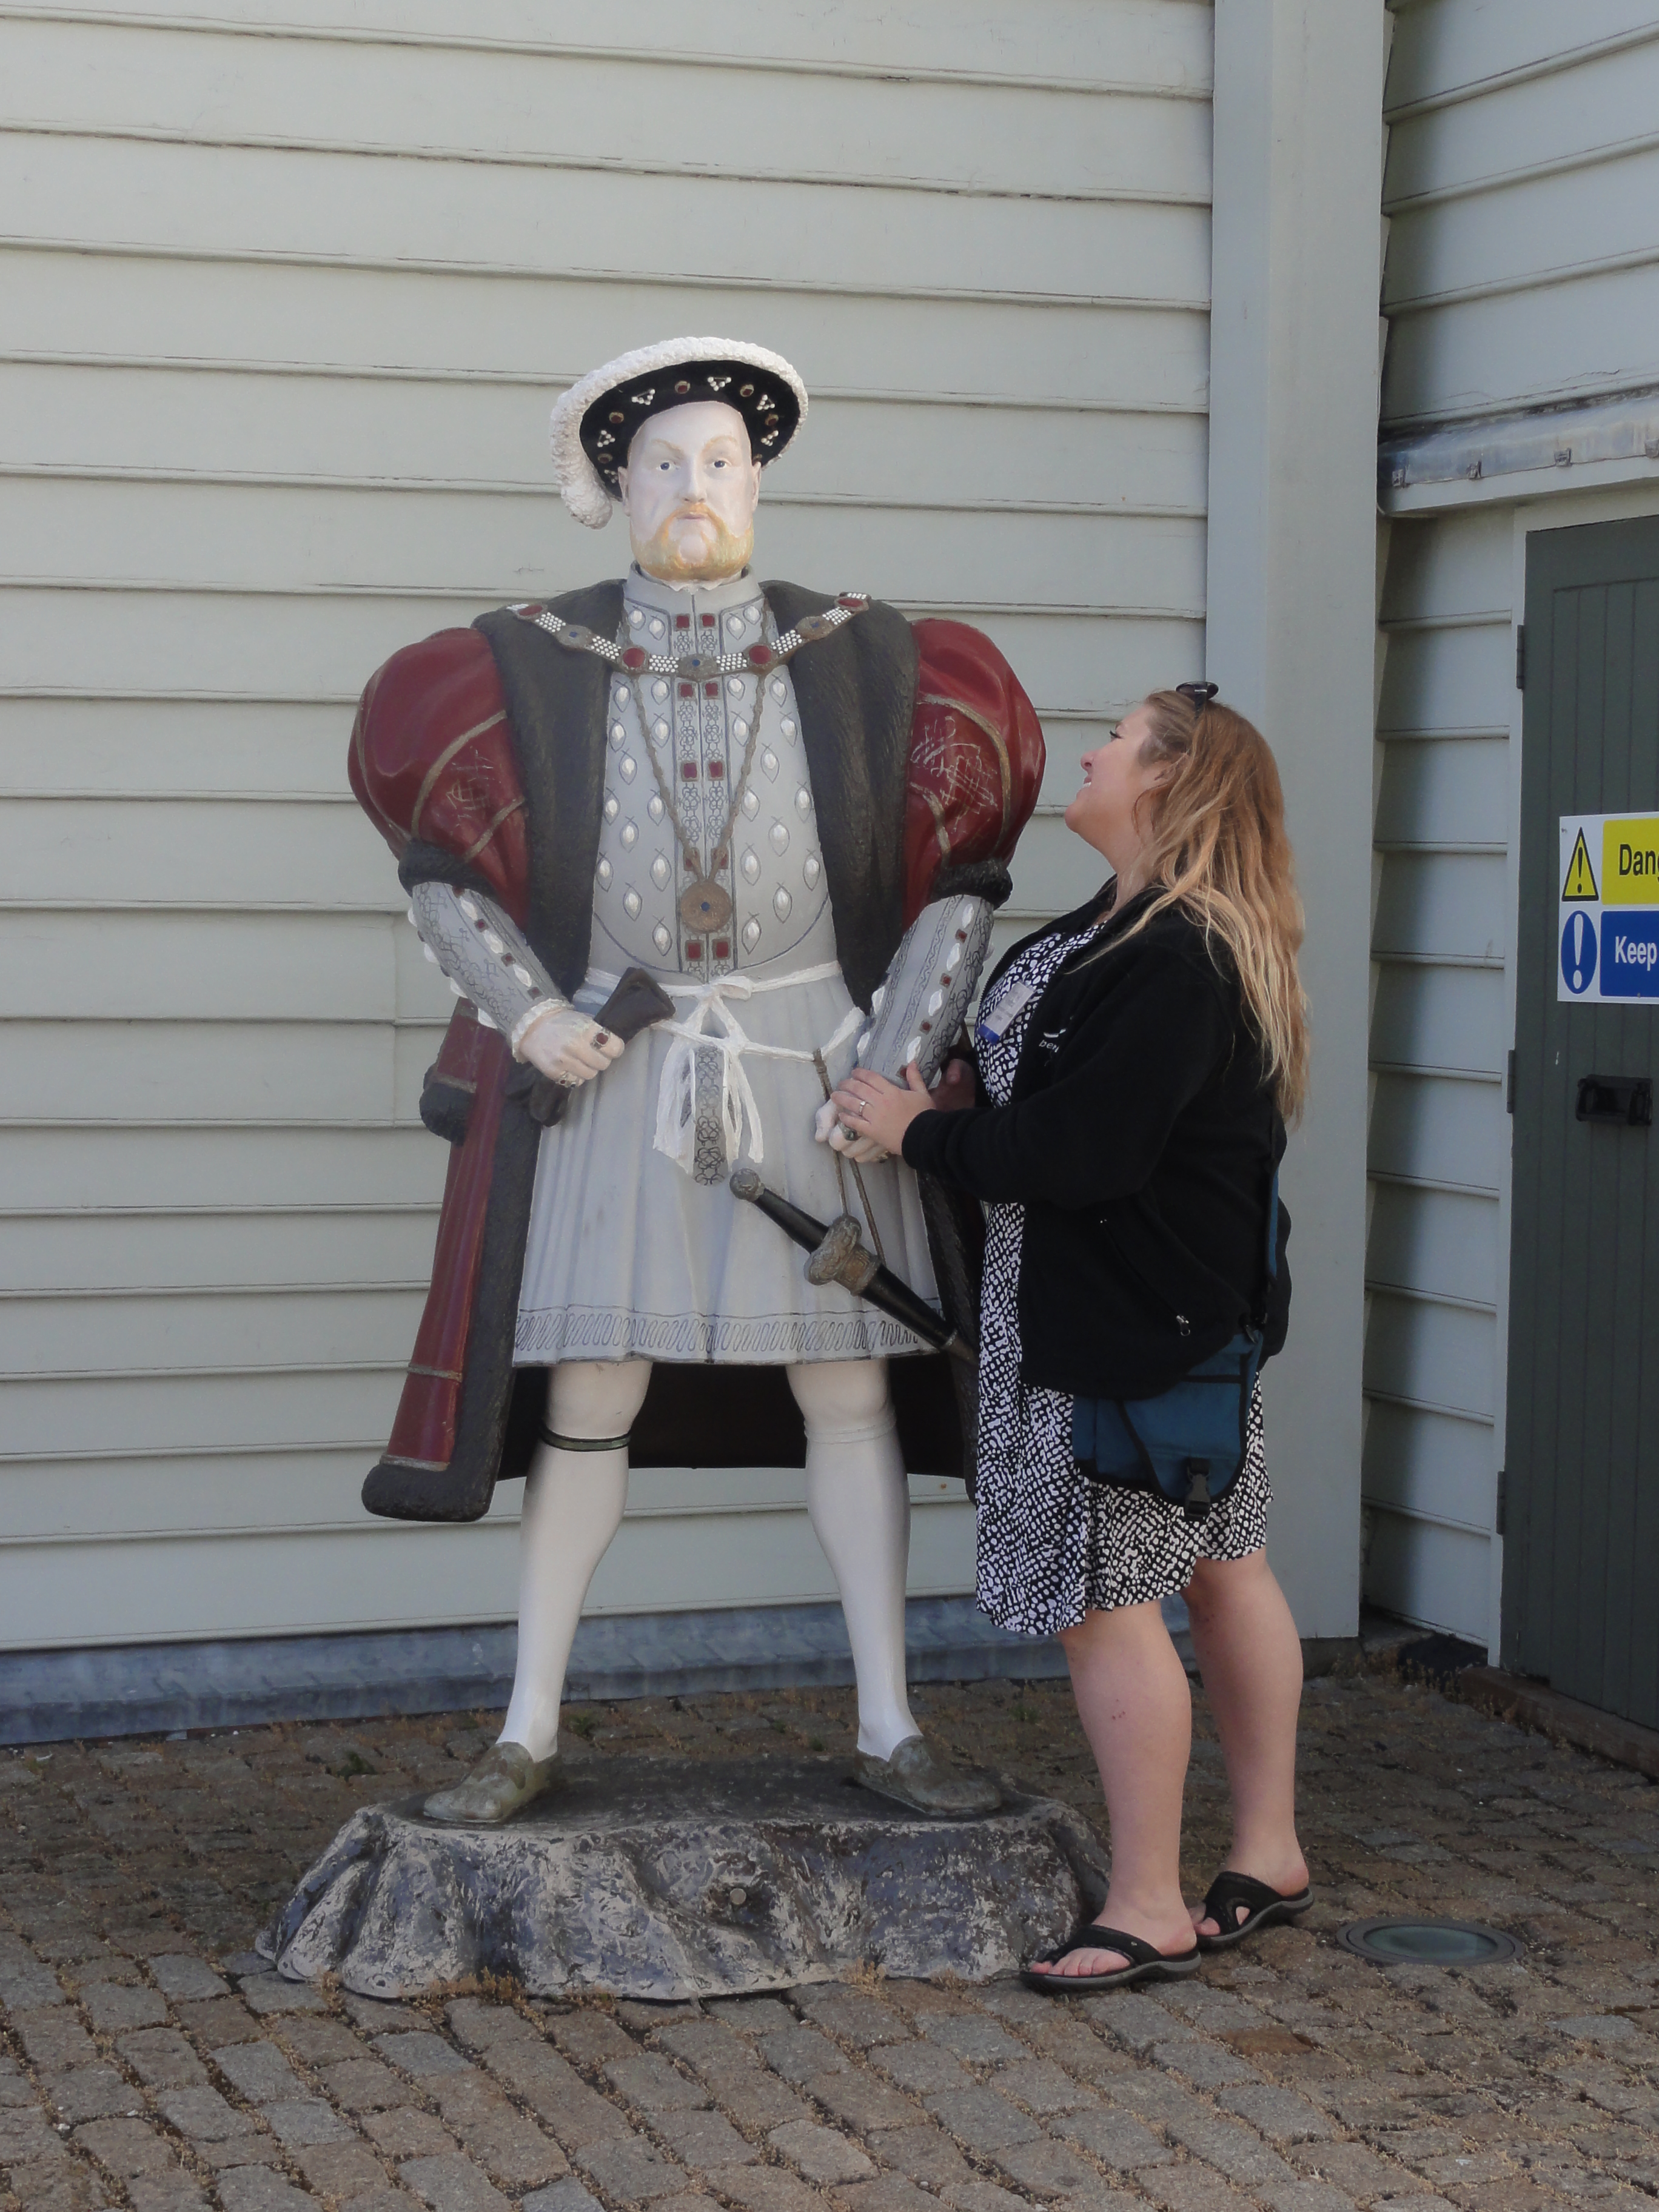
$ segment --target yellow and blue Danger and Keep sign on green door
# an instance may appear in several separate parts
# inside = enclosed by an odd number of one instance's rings
[[[1557,1000],[1659,1002],[1659,814],[1562,816]]]

